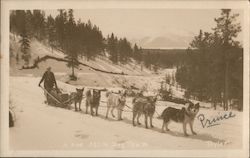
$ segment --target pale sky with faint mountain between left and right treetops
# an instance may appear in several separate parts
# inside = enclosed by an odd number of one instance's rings
[[[163,48],[171,47],[171,43],[172,47],[187,47],[200,29],[211,31],[215,27],[214,18],[220,12],[218,9],[81,9],[74,10],[74,16],[83,22],[90,19],[104,36],[113,32],[144,47]],[[238,22],[243,21],[241,10],[233,13],[240,13]],[[55,16],[58,11],[46,10],[46,14]],[[164,40],[168,43],[165,46]]]

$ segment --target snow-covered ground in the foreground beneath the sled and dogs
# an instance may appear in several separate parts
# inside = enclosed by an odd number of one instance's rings
[[[171,123],[170,132],[161,133],[162,120],[153,123],[153,129],[133,127],[130,109],[123,113],[123,121],[105,119],[106,97],[102,94],[100,116],[92,117],[83,112],[75,112],[44,104],[44,94],[38,87],[38,77],[10,77],[11,106],[16,115],[15,127],[10,128],[11,150],[143,150],[143,149],[215,149],[242,147],[242,113],[233,111],[235,117],[220,121],[220,125],[203,128],[196,118],[194,130],[198,135],[183,136],[182,125]],[[66,92],[75,91],[75,86],[58,81]],[[127,104],[131,107],[131,99]],[[202,104],[202,103],[201,103]],[[156,111],[161,113],[166,106],[181,107],[170,102],[157,102]],[[85,100],[82,101],[85,111]],[[224,111],[200,109],[199,114],[213,118]],[[228,112],[227,112],[228,113]],[[188,128],[188,133],[190,130]]]

